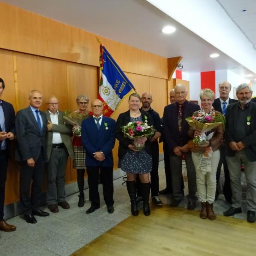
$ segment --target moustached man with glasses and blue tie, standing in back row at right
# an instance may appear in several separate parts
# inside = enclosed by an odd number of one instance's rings
[[[231,91],[231,84],[228,82],[222,82],[219,84],[219,92],[220,92],[220,98],[215,99],[213,103],[213,107],[215,110],[219,111],[220,113],[223,113],[225,115],[226,113],[226,108],[229,104],[237,102],[237,100],[233,100],[229,98],[229,93]],[[223,164],[223,169],[224,169],[224,175],[225,175],[225,182],[223,186],[223,194],[226,198],[226,201],[231,203],[232,200],[232,191],[230,187],[230,177],[229,177],[229,172],[226,164],[226,154],[225,154],[225,146],[223,145],[220,147],[220,161],[219,165],[217,168],[217,173],[216,173],[216,179],[217,179],[217,184],[220,179],[220,171],[221,171],[221,166]],[[218,191],[218,186],[216,188],[216,194],[215,194],[215,199],[217,199],[219,196],[219,191]]]

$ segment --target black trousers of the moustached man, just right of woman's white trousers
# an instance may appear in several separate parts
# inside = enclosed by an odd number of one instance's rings
[[[229,177],[228,167],[227,167],[227,163],[226,163],[225,147],[220,148],[220,161],[219,161],[217,173],[216,173],[217,184],[220,179],[220,171],[221,171],[222,164],[223,164],[224,177],[225,177],[225,181],[224,181],[224,185],[223,185],[223,194],[224,194],[226,200],[231,200],[232,199],[232,191],[231,191],[231,186],[230,186],[230,177]],[[218,189],[218,186],[217,186],[217,189]]]

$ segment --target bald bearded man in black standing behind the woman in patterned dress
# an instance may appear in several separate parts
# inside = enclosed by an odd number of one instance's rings
[[[158,165],[159,165],[159,145],[158,138],[161,136],[161,121],[160,116],[153,108],[151,108],[152,95],[149,92],[143,93],[141,96],[142,110],[147,111],[153,119],[155,128],[155,135],[151,138],[151,150],[152,150],[152,171],[150,172],[151,180],[151,198],[152,202],[156,205],[161,206],[163,203],[159,198],[159,176],[158,176]],[[137,182],[137,196],[140,196],[139,183],[140,180],[136,179]]]

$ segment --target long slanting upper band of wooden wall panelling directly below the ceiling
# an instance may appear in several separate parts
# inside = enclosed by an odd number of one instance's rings
[[[0,3],[0,48],[99,66],[99,43],[108,49],[123,71],[167,79],[167,59]]]

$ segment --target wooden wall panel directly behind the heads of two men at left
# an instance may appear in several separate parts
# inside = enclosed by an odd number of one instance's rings
[[[38,89],[43,95],[41,110],[46,110],[47,98],[58,97],[60,109],[67,105],[67,78],[65,61],[37,57],[29,54],[17,55],[18,109],[28,107],[29,92]]]

